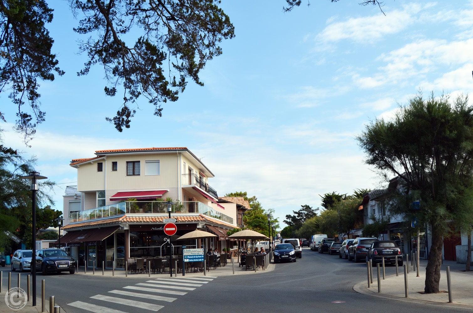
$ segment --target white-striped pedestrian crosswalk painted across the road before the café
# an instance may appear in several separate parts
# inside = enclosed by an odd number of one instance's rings
[[[87,302],[75,301],[68,305],[93,313],[134,313],[136,308],[156,312],[166,303],[177,300],[178,296],[185,296],[216,278],[217,276],[156,278],[122,289],[110,290],[106,295],[91,296],[90,299],[93,300]],[[108,307],[109,303],[121,305],[119,308],[125,311]]]

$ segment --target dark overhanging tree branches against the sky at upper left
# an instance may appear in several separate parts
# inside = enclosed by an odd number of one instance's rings
[[[235,36],[229,17],[213,0],[69,0],[79,17],[74,28],[88,35],[79,52],[88,60],[79,76],[99,65],[108,84],[106,95],[123,95],[123,106],[106,118],[118,131],[129,128],[140,96],[161,116],[161,103],[177,101],[188,80],[203,85],[199,73],[207,61],[219,56],[222,39]],[[53,38],[46,24],[53,9],[45,0],[0,0],[0,94],[11,90],[18,107],[17,130],[27,142],[44,121],[37,79],[54,80],[58,68],[51,53]],[[121,85],[121,86],[120,86]],[[28,103],[26,105],[25,99]],[[33,114],[23,112],[28,107]],[[5,116],[0,112],[0,118]]]

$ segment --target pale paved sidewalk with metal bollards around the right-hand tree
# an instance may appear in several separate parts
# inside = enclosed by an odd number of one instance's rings
[[[409,262],[410,263],[410,262]],[[356,292],[378,296],[387,299],[417,302],[424,304],[446,305],[461,308],[473,309],[473,271],[464,272],[465,265],[457,264],[454,261],[444,261],[440,270],[440,290],[448,291],[447,288],[447,266],[450,266],[450,278],[452,285],[452,303],[448,303],[448,293],[427,294],[423,295],[419,292],[424,291],[425,287],[425,267],[427,260],[420,260],[419,276],[416,271],[412,271],[412,266],[409,267],[409,274],[407,275],[409,297],[405,297],[404,288],[404,271],[399,268],[399,277],[396,274],[386,277],[383,280],[383,270],[381,268],[381,292],[378,293],[377,284],[377,269],[373,267],[373,284],[368,288],[368,274],[367,279],[353,286]]]

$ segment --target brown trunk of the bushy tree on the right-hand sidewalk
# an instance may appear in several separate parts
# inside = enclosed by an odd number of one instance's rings
[[[432,227],[432,245],[430,246],[429,260],[425,268],[426,294],[438,293],[440,284],[440,266],[442,265],[443,237],[441,232]]]

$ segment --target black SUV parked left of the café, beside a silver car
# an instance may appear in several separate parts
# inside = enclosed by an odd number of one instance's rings
[[[50,248],[41,249],[36,252],[36,271],[42,271],[43,275],[63,271],[74,274],[76,269],[76,260],[67,255],[64,250]]]

